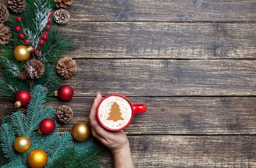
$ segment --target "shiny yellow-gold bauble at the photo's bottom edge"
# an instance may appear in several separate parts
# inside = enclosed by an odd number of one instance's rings
[[[47,164],[48,156],[45,151],[35,149],[29,152],[27,161],[31,168],[43,168]]]

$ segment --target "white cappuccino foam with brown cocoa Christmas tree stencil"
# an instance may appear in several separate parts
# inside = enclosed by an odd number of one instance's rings
[[[117,130],[130,122],[132,116],[131,105],[125,98],[110,96],[105,98],[100,104],[98,116],[103,125]]]

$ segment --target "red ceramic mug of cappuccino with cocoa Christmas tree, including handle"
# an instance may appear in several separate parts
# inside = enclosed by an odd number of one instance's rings
[[[131,101],[120,94],[105,96],[97,107],[97,118],[102,127],[111,131],[125,129],[132,121],[134,113],[144,113],[145,104],[131,104]]]

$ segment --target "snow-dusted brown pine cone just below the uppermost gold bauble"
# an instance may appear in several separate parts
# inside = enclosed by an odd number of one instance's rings
[[[29,60],[24,65],[26,76],[32,79],[41,78],[44,75],[44,64],[38,60]]]

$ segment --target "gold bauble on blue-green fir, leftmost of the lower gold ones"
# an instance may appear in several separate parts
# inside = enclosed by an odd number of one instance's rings
[[[20,153],[28,151],[30,146],[30,140],[26,136],[20,136],[15,139],[14,148]]]

